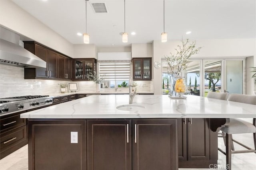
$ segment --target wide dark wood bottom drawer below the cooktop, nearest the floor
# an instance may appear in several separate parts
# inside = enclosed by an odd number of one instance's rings
[[[27,127],[22,126],[18,127],[14,130],[7,131],[5,133],[1,133],[0,138],[0,150],[1,156],[0,158],[4,158],[8,154],[14,152],[20,147],[26,145],[28,143],[27,140]]]

